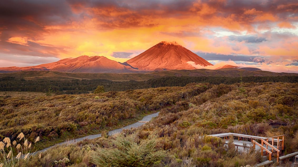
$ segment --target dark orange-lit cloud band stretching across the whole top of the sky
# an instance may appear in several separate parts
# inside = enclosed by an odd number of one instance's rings
[[[204,10],[202,4],[216,10],[200,13]],[[235,15],[233,21],[248,25],[254,23],[255,18],[254,13],[246,13],[249,9],[255,9],[263,14],[271,13],[287,21],[297,16],[298,4],[293,0],[202,0],[201,3],[194,0],[2,0],[0,31],[19,31],[19,34],[34,37],[38,36],[38,32],[46,31],[44,26],[67,25],[73,21],[80,22],[84,17],[97,18],[98,26],[105,28],[150,27],[157,25],[154,18],[188,18],[198,15],[203,20]]]

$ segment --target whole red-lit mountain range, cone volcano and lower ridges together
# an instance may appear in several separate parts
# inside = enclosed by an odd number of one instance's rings
[[[146,73],[151,71],[194,70],[198,67],[201,68],[204,66],[213,65],[177,42],[162,41],[124,63],[110,60],[104,56],[82,55],[77,58],[65,58],[56,62],[45,63],[36,66],[1,67],[0,73],[18,71]],[[227,68],[236,69],[239,67],[226,64],[216,69]]]

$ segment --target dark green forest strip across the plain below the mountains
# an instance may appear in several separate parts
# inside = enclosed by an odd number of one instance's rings
[[[15,77],[0,78],[0,91],[47,92],[49,88],[55,94],[90,93],[102,85],[105,91],[125,91],[130,89],[157,88],[166,86],[185,86],[189,83],[234,84],[240,82],[298,82],[297,76],[278,77],[161,77],[147,81],[111,81],[106,79],[75,80],[25,80]]]

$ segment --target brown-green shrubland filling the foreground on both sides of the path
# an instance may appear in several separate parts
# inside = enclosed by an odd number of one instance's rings
[[[22,132],[32,144],[40,136],[41,144],[34,145],[41,148],[55,139],[115,128],[125,120],[160,111],[140,128],[56,146],[19,160],[15,166],[240,167],[260,162],[260,152],[238,152],[233,143],[225,145],[220,138],[205,136],[226,132],[264,137],[285,134],[283,154],[298,151],[298,84],[239,80],[80,95],[4,92],[0,139],[14,141]],[[167,84],[166,80],[159,83]]]

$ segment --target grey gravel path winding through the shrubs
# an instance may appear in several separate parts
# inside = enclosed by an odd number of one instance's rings
[[[140,120],[140,121],[138,121],[136,123],[133,123],[131,125],[127,125],[127,126],[125,126],[123,128],[118,128],[118,129],[109,131],[109,136],[114,135],[114,134],[117,134],[117,133],[120,133],[120,132],[122,132],[123,129],[137,128],[139,126],[142,126],[146,122],[149,122],[153,117],[157,117],[158,114],[159,114],[159,112],[156,112],[154,114],[147,115],[147,116],[143,117],[142,120]],[[69,143],[77,143],[77,142],[83,141],[84,139],[96,139],[98,137],[101,137],[101,133],[100,134],[95,134],[95,135],[89,135],[89,136],[85,136],[85,137],[81,137],[81,138],[77,138],[77,139],[72,139],[72,140],[69,140],[69,141],[64,141],[62,143],[55,144],[55,145],[50,146],[50,147],[47,147],[45,149],[38,150],[34,154],[37,154],[37,153],[40,153],[40,152],[44,152],[47,149],[50,149],[50,148],[55,147],[57,145],[69,144]]]

